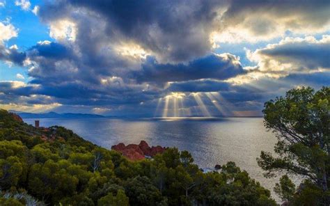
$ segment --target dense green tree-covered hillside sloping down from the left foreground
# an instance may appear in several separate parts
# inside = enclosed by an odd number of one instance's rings
[[[35,128],[0,110],[2,205],[276,205],[233,162],[203,173],[169,148],[129,161],[63,127]]]

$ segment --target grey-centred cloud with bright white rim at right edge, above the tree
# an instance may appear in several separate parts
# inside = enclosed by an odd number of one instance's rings
[[[323,35],[320,40],[312,36],[285,38],[255,52],[247,51],[247,56],[258,63],[260,72],[287,75],[330,70],[330,35]]]

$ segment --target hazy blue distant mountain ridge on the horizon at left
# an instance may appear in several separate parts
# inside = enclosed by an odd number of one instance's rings
[[[105,116],[93,113],[27,113],[22,111],[10,111],[17,113],[21,118],[105,118]]]

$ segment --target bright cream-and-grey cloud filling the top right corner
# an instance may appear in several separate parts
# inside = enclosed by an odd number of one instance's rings
[[[329,29],[330,1],[230,1],[215,35],[218,42],[258,42]]]

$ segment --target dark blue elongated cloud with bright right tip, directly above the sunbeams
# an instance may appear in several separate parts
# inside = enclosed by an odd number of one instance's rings
[[[162,64],[149,56],[142,65],[142,70],[136,72],[139,82],[164,84],[168,81],[187,81],[195,79],[228,79],[245,70],[239,63],[239,58],[232,54],[212,54],[189,63]]]

